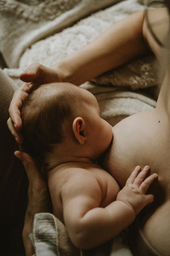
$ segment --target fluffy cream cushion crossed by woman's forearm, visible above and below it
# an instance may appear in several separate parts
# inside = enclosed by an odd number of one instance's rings
[[[35,42],[25,50],[20,58],[19,68],[25,70],[33,62],[39,62],[45,66],[55,64],[56,60],[64,59],[94,40],[114,22],[127,16],[126,13],[130,14],[132,6],[136,10],[143,8],[133,0],[122,1],[115,6],[81,19],[74,26],[68,27],[60,33]],[[157,83],[156,64],[153,55],[146,56],[108,71],[90,81],[102,86],[130,87],[132,90],[151,87]]]

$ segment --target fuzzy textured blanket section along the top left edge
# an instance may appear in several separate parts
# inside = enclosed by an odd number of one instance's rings
[[[81,0],[1,0],[0,10],[37,22],[42,18],[53,20],[79,2]]]

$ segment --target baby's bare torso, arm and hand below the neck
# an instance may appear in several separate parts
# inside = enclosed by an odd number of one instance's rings
[[[114,238],[153,201],[145,193],[158,176],[145,179],[148,170],[139,173],[137,166],[122,190],[96,163],[68,162],[48,172],[53,214],[76,247],[89,249]]]

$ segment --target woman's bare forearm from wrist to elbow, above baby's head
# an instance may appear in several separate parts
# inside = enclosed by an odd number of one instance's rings
[[[93,42],[52,67],[63,82],[80,85],[99,74],[148,52],[142,35],[144,12],[134,13],[113,24]]]

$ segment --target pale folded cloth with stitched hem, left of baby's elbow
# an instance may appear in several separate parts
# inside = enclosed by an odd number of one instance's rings
[[[83,255],[70,241],[66,227],[50,213],[35,214],[30,239],[36,256]]]

